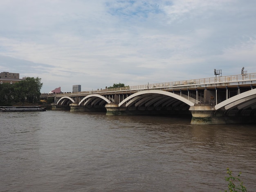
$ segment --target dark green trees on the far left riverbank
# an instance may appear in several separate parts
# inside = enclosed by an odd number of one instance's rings
[[[40,78],[27,77],[18,83],[0,84],[0,105],[11,106],[16,103],[38,103],[43,83]]]

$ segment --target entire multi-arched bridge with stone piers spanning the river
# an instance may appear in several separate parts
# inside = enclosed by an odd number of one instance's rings
[[[106,115],[190,115],[191,124],[256,123],[256,73],[42,94],[52,109]]]

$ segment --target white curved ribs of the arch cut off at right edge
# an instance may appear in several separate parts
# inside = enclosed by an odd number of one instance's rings
[[[225,110],[228,110],[242,105],[245,102],[249,102],[250,100],[254,100],[255,98],[256,89],[252,89],[222,101],[221,103],[215,105],[215,110],[221,109],[222,107],[224,107]]]

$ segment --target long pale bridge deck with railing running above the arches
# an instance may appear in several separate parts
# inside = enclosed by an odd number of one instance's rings
[[[65,92],[60,94],[41,94],[41,98],[47,97],[61,97],[61,96],[74,96],[74,95],[89,95],[89,94],[133,94],[135,92],[146,89],[159,89],[165,91],[175,90],[197,90],[197,89],[224,89],[237,88],[237,87],[255,87],[256,86],[256,73],[246,75],[233,75],[233,76],[220,76],[214,78],[201,78],[193,80],[173,81],[167,83],[153,83],[146,85],[126,86],[111,89],[97,89],[85,92]]]

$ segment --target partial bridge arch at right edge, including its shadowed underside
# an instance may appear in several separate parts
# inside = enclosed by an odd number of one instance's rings
[[[216,110],[231,110],[234,108],[240,110],[248,107],[256,108],[256,89],[243,92],[215,105]]]

